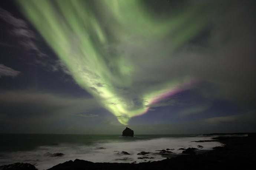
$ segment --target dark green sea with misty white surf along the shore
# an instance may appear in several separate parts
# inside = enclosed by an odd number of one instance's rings
[[[91,162],[140,163],[166,159],[159,154],[166,150],[175,156],[180,148],[203,146],[199,152],[221,146],[219,142],[192,142],[211,140],[207,135],[64,135],[64,134],[0,134],[0,166],[16,162],[30,163],[43,170],[69,160]],[[122,151],[128,152],[123,154]],[[140,152],[149,154],[137,155]],[[53,156],[63,153],[63,156]],[[143,158],[144,157],[144,158]],[[141,159],[142,158],[142,159]]]

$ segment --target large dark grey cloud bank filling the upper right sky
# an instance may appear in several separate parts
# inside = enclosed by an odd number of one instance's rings
[[[200,87],[207,98],[226,99],[255,109],[255,1],[207,3],[217,3],[218,7],[205,16],[208,21],[205,29],[175,51],[161,52],[168,49],[171,38],[145,43],[145,48],[132,45],[117,48],[131,58],[136,57],[140,72],[134,76],[138,84],[197,79],[208,84]]]

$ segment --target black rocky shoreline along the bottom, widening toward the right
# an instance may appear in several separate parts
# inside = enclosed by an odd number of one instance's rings
[[[197,152],[196,148],[184,150],[185,154],[171,157],[161,161],[143,163],[93,163],[85,160],[76,159],[53,166],[48,170],[153,170],[153,169],[254,169],[256,160],[256,137],[248,135],[247,137],[214,137],[223,143],[223,146],[214,147],[209,152]],[[196,142],[196,141],[194,141]],[[211,142],[211,141],[205,141]],[[203,147],[203,146],[198,146]],[[160,152],[164,152],[159,150]],[[167,150],[165,150],[166,152]],[[169,151],[171,152],[171,151]],[[168,152],[166,152],[168,153]],[[141,154],[143,157],[143,154]],[[15,163],[1,166],[0,170],[36,170],[35,166],[28,163]]]

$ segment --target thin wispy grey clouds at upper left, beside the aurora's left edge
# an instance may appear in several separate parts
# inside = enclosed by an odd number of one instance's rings
[[[36,54],[37,57],[33,58],[32,64],[41,65],[47,71],[63,71],[70,75],[62,61],[50,57],[40,48],[39,44],[42,39],[28,26],[26,21],[13,16],[12,13],[3,8],[0,8],[0,20],[9,25],[2,31],[6,31],[11,36],[7,39],[12,40],[10,42],[0,42],[0,45],[18,48],[22,46],[25,50]]]

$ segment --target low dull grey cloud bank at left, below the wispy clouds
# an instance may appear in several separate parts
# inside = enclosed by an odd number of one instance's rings
[[[95,108],[99,105],[93,98],[70,98],[33,91],[0,92],[0,113],[5,115],[2,121],[65,119]]]

